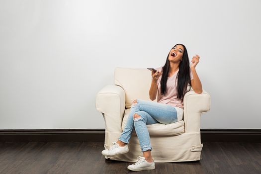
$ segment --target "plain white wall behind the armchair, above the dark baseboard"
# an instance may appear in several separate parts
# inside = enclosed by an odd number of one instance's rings
[[[201,128],[261,129],[261,0],[0,0],[0,129],[104,128],[115,67],[183,43],[211,95]]]

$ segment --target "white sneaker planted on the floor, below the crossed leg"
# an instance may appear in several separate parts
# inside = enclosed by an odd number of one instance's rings
[[[136,163],[129,165],[128,169],[131,171],[143,171],[155,169],[154,159],[151,163],[147,162],[144,157],[138,157]]]

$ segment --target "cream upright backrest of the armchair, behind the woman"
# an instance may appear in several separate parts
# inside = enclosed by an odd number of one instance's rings
[[[114,71],[114,84],[125,91],[126,108],[131,107],[135,99],[150,100],[151,71],[145,68],[119,68]]]

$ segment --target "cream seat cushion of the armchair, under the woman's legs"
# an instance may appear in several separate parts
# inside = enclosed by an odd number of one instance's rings
[[[124,112],[123,120],[122,120],[122,130],[124,129],[127,119],[130,113],[130,109],[126,109]],[[147,125],[148,131],[150,135],[152,136],[168,136],[168,135],[179,135],[184,133],[184,121],[178,121],[171,124],[162,124],[162,123],[156,123],[156,124],[150,124]],[[135,130],[133,131],[134,134]]]

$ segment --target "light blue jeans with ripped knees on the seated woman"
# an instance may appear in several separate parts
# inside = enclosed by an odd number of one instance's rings
[[[154,101],[137,99],[137,103],[133,102],[127,119],[127,123],[119,140],[129,143],[130,137],[135,128],[137,137],[140,142],[141,151],[152,150],[150,143],[150,135],[147,124],[170,124],[177,122],[177,112],[174,106]],[[140,117],[134,118],[134,114]]]

